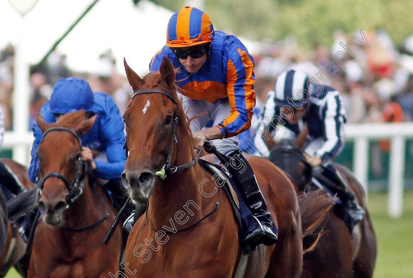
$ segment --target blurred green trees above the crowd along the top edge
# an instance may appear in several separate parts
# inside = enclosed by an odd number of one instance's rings
[[[188,0],[152,0],[177,11]],[[279,41],[293,34],[305,49],[331,46],[335,30],[383,28],[396,45],[413,31],[413,1],[384,0],[205,0],[206,11],[218,30],[252,40]]]

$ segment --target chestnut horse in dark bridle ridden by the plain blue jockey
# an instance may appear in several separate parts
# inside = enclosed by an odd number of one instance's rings
[[[119,270],[121,228],[102,243],[117,211],[101,186],[89,184],[80,136],[93,126],[85,111],[67,113],[48,124],[37,149],[41,217],[34,232],[29,278],[108,277]]]

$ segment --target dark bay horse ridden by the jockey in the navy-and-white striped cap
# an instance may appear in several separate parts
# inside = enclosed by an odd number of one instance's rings
[[[311,171],[299,148],[290,140],[282,140],[271,154],[268,159],[283,169],[291,177],[297,193],[301,192],[311,180]],[[301,278],[371,278],[376,262],[377,241],[367,210],[365,192],[348,168],[337,163],[333,165],[366,214],[350,234],[344,221],[333,211],[329,212],[319,244],[314,251],[304,255]],[[311,244],[312,240],[308,237],[305,242]]]

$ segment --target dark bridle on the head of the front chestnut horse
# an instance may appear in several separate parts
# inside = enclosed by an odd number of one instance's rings
[[[150,89],[150,90],[140,90],[140,91],[136,91],[133,93],[132,95],[132,100],[134,97],[136,97],[137,95],[140,94],[162,94],[167,96],[172,102],[174,102],[175,105],[177,105],[177,99],[175,98],[174,95],[172,95],[171,93],[165,92],[163,90],[156,90],[156,89]],[[165,162],[165,165],[162,167],[162,169],[160,169],[159,171],[155,172],[155,176],[158,176],[162,179],[165,179],[168,175],[170,174],[174,174],[179,170],[183,170],[186,168],[191,167],[192,165],[194,165],[197,160],[198,160],[198,155],[197,157],[195,157],[191,162],[180,165],[180,166],[172,166],[171,167],[171,160],[172,160],[172,153],[174,151],[174,143],[176,143],[176,145],[178,146],[178,132],[177,132],[177,127],[178,127],[178,109],[175,110],[174,112],[174,127],[173,127],[173,131],[172,131],[172,143],[171,143],[171,149],[168,152],[168,156]],[[178,147],[177,147],[178,148]],[[126,152],[126,157],[128,156],[128,146],[127,146],[127,142],[125,141],[125,146],[124,146],[125,152]],[[201,152],[199,152],[200,154]]]

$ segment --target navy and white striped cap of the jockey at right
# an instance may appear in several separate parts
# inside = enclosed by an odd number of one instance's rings
[[[310,101],[308,82],[309,79],[303,72],[295,70],[283,72],[275,82],[275,104],[296,107],[307,103]]]

